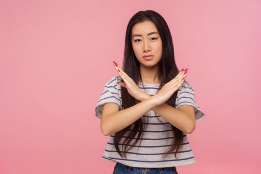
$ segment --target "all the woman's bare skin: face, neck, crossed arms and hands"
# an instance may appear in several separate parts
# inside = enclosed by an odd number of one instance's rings
[[[154,23],[144,21],[135,24],[132,28],[132,36],[134,34],[141,34],[142,36],[133,37],[132,45],[134,53],[140,62],[143,82],[159,84],[158,71],[159,61],[162,56],[162,40],[159,34],[147,36],[147,34],[151,32],[158,32]],[[154,39],[154,37],[158,39]],[[143,58],[144,55],[154,55],[153,60],[146,61]],[[187,75],[185,73],[186,71],[180,71],[177,76],[165,84],[157,94],[151,96],[141,90],[118,65],[114,65],[114,68],[124,81],[119,83],[119,85],[126,87],[130,95],[141,102],[123,110],[119,110],[119,106],[115,103],[104,104],[100,125],[104,135],[111,135],[112,133],[122,130],[138,120],[149,110],[154,110],[162,118],[186,134],[190,134],[194,131],[195,110],[193,106],[182,105],[176,109],[165,103],[183,84],[183,78]]]

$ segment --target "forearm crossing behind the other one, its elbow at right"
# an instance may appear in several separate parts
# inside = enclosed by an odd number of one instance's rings
[[[140,98],[140,101],[147,100],[151,97],[151,95],[145,95]],[[156,105],[152,110],[186,134],[189,133],[191,127],[193,127],[193,120],[191,120],[186,112],[176,109],[169,104],[163,103],[161,105]]]

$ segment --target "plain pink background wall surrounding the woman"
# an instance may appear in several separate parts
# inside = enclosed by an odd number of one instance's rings
[[[0,0],[0,174],[111,174],[94,107],[127,23],[167,21],[206,117],[179,174],[260,172],[260,0]]]

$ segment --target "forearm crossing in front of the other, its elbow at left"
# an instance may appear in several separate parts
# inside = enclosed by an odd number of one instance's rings
[[[153,102],[152,98],[147,98],[134,106],[107,115],[101,123],[104,128],[104,135],[111,135],[126,128],[141,118],[154,106],[156,106],[156,104]]]

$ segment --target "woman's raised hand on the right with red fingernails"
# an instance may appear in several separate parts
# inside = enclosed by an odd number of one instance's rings
[[[185,71],[181,70],[173,80],[165,84],[158,93],[152,96],[156,105],[165,103],[182,86],[186,73],[187,69]]]

